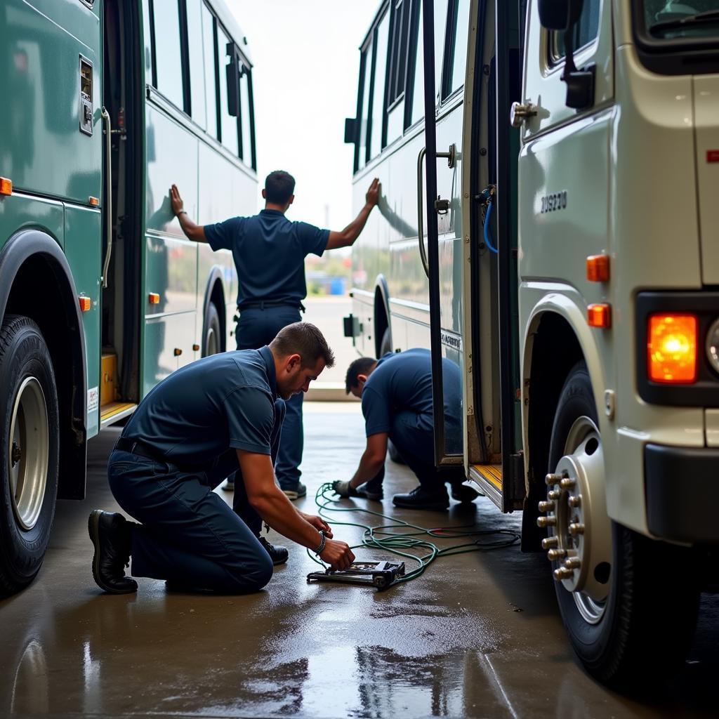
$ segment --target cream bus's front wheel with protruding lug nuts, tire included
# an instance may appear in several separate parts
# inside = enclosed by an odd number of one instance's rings
[[[689,649],[699,592],[681,550],[610,521],[602,440],[584,362],[569,373],[554,416],[547,500],[557,601],[569,641],[590,674],[616,687],[669,674]],[[671,607],[671,618],[667,608]]]

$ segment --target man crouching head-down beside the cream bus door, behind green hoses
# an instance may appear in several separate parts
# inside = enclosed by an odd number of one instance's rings
[[[462,448],[462,377],[459,367],[448,359],[442,360],[442,376],[448,449],[459,452]],[[454,499],[471,501],[477,497],[471,487],[462,486],[462,467],[437,470],[434,465],[432,364],[428,349],[385,354],[379,361],[370,357],[355,359],[347,370],[345,390],[362,399],[367,446],[354,477],[349,482],[334,482],[337,494],[383,498],[385,455],[390,439],[419,480],[419,486],[410,493],[394,495],[395,506],[446,509],[449,496],[444,482],[452,485]]]

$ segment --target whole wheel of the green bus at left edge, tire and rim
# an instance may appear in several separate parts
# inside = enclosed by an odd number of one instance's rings
[[[9,315],[0,329],[0,593],[29,585],[50,539],[58,493],[58,392],[35,322]]]

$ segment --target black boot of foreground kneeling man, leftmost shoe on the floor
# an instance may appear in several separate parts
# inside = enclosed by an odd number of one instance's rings
[[[129,524],[122,514],[94,510],[88,519],[88,532],[95,546],[92,575],[97,585],[110,594],[137,592],[137,582],[125,576],[131,541]]]

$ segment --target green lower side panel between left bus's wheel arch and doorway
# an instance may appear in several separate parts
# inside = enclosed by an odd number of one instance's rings
[[[89,297],[91,308],[82,313],[87,357],[88,439],[100,429],[100,275],[102,219],[99,210],[65,206],[65,255],[73,270],[78,296]]]

